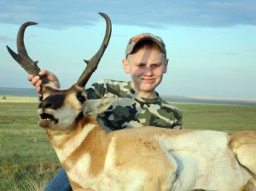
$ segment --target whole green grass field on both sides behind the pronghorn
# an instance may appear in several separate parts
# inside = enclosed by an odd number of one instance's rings
[[[43,190],[60,167],[45,131],[38,127],[37,105],[24,97],[0,101],[0,191]],[[185,129],[256,130],[256,107],[174,105],[183,112]]]

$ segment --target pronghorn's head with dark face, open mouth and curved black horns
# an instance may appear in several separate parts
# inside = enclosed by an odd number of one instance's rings
[[[40,116],[39,125],[47,130],[53,130],[55,132],[72,130],[79,122],[79,119],[86,113],[88,106],[85,102],[88,101],[86,101],[87,96],[84,92],[84,86],[88,82],[91,74],[95,72],[105,49],[108,47],[111,36],[111,20],[108,18],[107,14],[99,14],[102,15],[107,23],[105,37],[96,55],[94,55],[90,61],[84,60],[87,66],[79,77],[79,80],[73,84],[71,88],[59,90],[48,78],[44,76],[40,77],[42,79],[42,99],[38,105],[38,115]],[[26,53],[24,32],[27,26],[36,24],[35,22],[26,22],[20,26],[17,35],[18,54],[7,46],[10,55],[12,55],[15,61],[17,61],[26,72],[34,76],[38,75],[40,68],[37,65],[38,61],[32,61]]]

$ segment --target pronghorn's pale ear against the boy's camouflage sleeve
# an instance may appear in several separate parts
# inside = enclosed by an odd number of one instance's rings
[[[108,107],[113,104],[114,96],[112,97],[102,97],[100,100],[87,100],[85,102],[85,107],[83,113],[96,113],[100,114],[105,112]]]

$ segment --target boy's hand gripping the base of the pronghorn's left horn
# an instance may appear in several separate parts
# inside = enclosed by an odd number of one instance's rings
[[[55,76],[54,73],[43,69],[38,74],[39,76],[46,76],[46,78],[48,78],[49,81],[55,84],[56,88],[60,88],[61,85],[60,85],[59,79]],[[42,88],[41,88],[42,80],[40,79],[39,76],[29,75],[27,79],[28,81],[31,82],[33,86],[35,86],[38,94],[42,94]]]

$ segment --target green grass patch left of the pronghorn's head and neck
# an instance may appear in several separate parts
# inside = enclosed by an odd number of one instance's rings
[[[0,103],[0,191],[43,190],[60,167],[38,127],[37,105]]]

